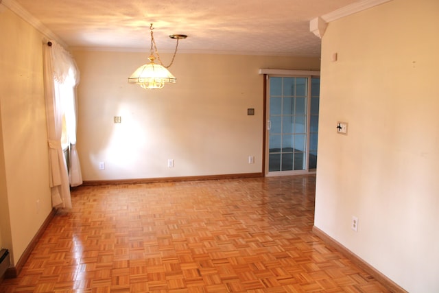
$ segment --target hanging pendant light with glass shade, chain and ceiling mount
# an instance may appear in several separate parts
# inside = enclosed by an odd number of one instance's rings
[[[128,78],[128,82],[132,84],[139,84],[143,89],[162,89],[167,82],[173,84],[177,82],[175,76],[172,75],[167,68],[171,67],[172,63],[174,62],[174,58],[176,58],[178,40],[187,38],[187,36],[185,34],[171,34],[169,36],[169,38],[174,38],[177,40],[176,50],[174,51],[174,56],[172,56],[171,63],[168,66],[164,66],[160,60],[160,56],[158,55],[156,42],[154,40],[154,32],[152,32],[152,30],[154,30],[154,28],[152,27],[151,23],[151,49],[150,57],[148,57],[150,63],[142,65],[136,71],[134,71],[134,73],[132,73],[132,75]],[[158,60],[160,64],[154,63],[155,60]]]

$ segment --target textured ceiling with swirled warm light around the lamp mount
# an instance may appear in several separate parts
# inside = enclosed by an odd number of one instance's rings
[[[320,56],[309,21],[355,0],[15,0],[69,47]]]

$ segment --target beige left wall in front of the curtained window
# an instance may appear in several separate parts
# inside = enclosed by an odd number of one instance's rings
[[[0,36],[0,231],[16,263],[51,211],[43,36],[2,4]]]

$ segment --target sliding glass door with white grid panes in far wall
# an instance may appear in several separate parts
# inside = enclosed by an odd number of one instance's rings
[[[316,169],[320,79],[269,76],[267,174]]]

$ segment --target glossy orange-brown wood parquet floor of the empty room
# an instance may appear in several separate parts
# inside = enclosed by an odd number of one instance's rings
[[[311,232],[315,180],[75,188],[0,292],[388,292]]]

